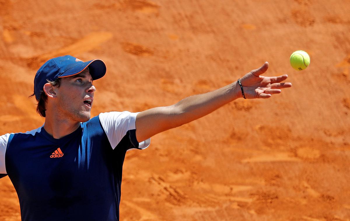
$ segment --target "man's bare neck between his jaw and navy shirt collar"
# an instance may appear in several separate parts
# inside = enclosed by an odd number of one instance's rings
[[[45,117],[44,129],[55,139],[62,138],[78,129],[80,122],[58,117],[56,114],[49,114]]]

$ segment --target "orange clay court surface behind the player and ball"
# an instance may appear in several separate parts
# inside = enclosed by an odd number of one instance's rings
[[[268,61],[293,84],[127,152],[121,220],[350,220],[350,1],[0,0],[0,134],[40,127],[49,58],[103,59],[92,116],[172,105]],[[45,2],[45,3],[44,3]],[[289,56],[305,50],[310,66]],[[0,220],[20,220],[0,179]]]

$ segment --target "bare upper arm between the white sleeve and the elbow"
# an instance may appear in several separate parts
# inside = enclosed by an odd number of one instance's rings
[[[145,140],[168,129],[181,126],[175,106],[155,107],[140,112],[136,117],[137,140]]]

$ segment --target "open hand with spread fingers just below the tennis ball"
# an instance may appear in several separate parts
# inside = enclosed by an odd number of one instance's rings
[[[252,70],[239,79],[243,86],[245,98],[270,98],[272,94],[281,93],[282,88],[292,87],[292,83],[281,83],[281,81],[288,78],[287,74],[283,74],[277,77],[261,76],[261,74],[265,73],[267,69],[268,62],[265,62],[258,69]],[[240,97],[243,96],[240,95]]]

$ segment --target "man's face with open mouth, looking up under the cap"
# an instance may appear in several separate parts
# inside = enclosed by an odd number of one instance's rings
[[[63,77],[56,89],[57,108],[70,120],[86,122],[90,119],[95,91],[87,68],[79,74]]]

